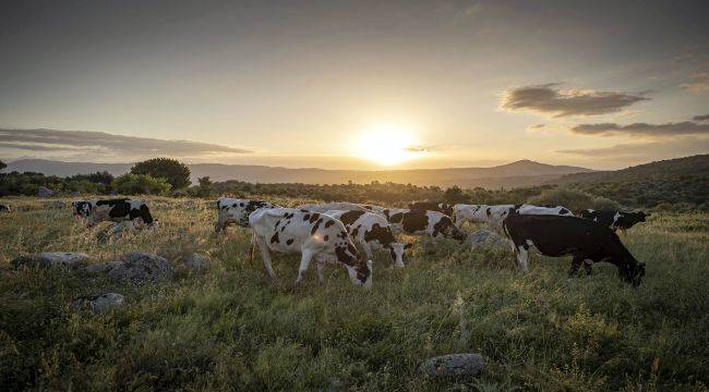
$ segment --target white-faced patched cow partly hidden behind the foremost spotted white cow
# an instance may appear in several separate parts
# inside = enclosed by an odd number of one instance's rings
[[[396,241],[392,233],[389,222],[382,216],[364,211],[338,211],[325,212],[333,218],[339,219],[345,229],[352,237],[352,241],[360,244],[368,259],[372,259],[372,249],[388,250],[395,267],[404,267],[404,253],[412,244],[401,244]]]

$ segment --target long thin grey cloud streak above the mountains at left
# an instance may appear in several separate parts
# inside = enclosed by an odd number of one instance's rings
[[[93,154],[121,158],[149,156],[200,157],[214,154],[251,152],[241,148],[209,143],[163,140],[113,135],[104,132],[1,128],[0,149]]]

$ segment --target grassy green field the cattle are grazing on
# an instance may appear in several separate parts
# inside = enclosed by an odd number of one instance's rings
[[[615,268],[568,281],[568,258],[417,244],[405,269],[380,259],[371,292],[329,266],[293,289],[298,258],[278,256],[272,282],[249,261],[249,233],[215,236],[213,204],[152,198],[163,223],[118,240],[84,229],[55,200],[15,198],[0,215],[2,390],[707,390],[709,215],[653,215],[622,237],[647,262],[634,290]],[[298,200],[277,200],[293,205]],[[147,250],[179,266],[167,283],[127,285],[47,270],[12,270],[25,253],[85,252],[94,262]],[[125,295],[106,315],[69,304]],[[467,380],[428,380],[426,357],[476,352]]]

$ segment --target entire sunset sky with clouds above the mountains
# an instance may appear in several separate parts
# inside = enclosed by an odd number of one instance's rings
[[[709,154],[707,1],[3,1],[0,159]]]

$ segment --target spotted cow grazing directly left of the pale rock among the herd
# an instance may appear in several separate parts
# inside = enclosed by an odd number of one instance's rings
[[[453,223],[450,217],[443,212],[398,208],[385,209],[384,216],[396,233],[428,235],[432,238],[445,237],[460,242],[466,240],[466,234]]]

